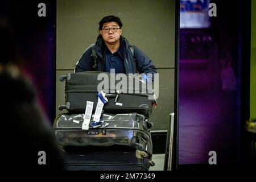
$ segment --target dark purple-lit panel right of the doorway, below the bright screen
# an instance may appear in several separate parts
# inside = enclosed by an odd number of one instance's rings
[[[180,29],[179,164],[208,164],[209,151],[218,164],[239,158],[241,59],[229,12],[237,9],[218,1],[210,28]]]

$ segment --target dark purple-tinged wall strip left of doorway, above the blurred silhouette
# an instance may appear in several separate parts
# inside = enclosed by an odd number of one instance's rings
[[[41,2],[46,4],[46,17],[38,16]],[[15,59],[35,86],[49,122],[55,118],[55,6],[55,1],[13,0],[1,7],[13,27]]]

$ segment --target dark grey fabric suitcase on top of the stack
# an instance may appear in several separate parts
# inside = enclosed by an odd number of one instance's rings
[[[59,110],[67,109],[70,113],[84,113],[86,101],[92,101],[94,112],[98,101],[97,94],[101,89],[107,93],[108,98],[108,103],[103,108],[105,113],[136,112],[148,118],[152,113],[152,105],[156,104],[150,82],[135,75],[122,74],[119,76],[125,78],[119,80],[115,79],[116,76],[117,74],[113,73],[92,71],[60,76],[60,81],[65,80],[66,95],[65,105],[60,105]]]

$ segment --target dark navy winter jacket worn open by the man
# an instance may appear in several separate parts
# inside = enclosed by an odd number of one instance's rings
[[[129,42],[123,36],[120,38],[121,48],[123,50],[123,59],[125,65],[125,73],[156,73],[156,68],[152,60],[143,53],[140,49],[134,46],[134,55],[131,52]],[[98,36],[94,46],[87,49],[77,62],[75,72],[83,71],[104,71],[105,63],[105,42],[101,35]],[[92,49],[94,48],[97,54],[96,69],[93,69],[94,61],[92,59]]]

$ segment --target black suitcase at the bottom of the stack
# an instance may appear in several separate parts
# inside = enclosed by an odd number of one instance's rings
[[[65,147],[68,171],[148,171],[145,152],[127,146]]]

